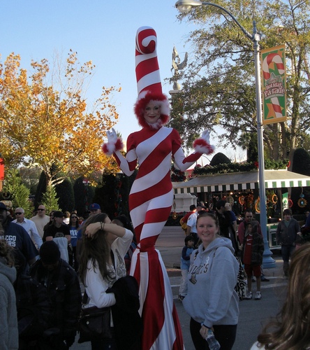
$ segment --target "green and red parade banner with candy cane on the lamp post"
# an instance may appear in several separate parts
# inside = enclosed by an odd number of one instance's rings
[[[286,121],[286,47],[261,50],[263,124]]]

